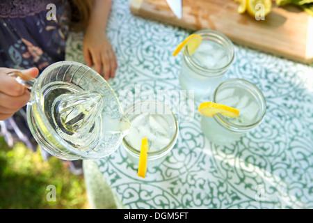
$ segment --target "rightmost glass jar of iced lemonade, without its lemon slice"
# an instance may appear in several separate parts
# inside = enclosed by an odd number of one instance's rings
[[[202,116],[204,136],[218,145],[238,141],[246,132],[257,128],[266,114],[266,100],[262,91],[245,79],[228,79],[222,82],[211,95],[211,102],[240,111],[238,118],[228,118],[222,114]]]

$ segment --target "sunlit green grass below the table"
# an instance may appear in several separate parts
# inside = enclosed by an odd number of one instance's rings
[[[56,187],[56,201],[47,201],[48,185]],[[0,137],[0,208],[89,207],[83,176],[73,175],[66,162],[43,161],[39,150],[22,143],[9,148]]]

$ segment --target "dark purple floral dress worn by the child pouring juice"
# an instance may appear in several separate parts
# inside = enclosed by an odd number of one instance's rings
[[[49,7],[51,3],[55,13]],[[70,7],[65,0],[0,0],[0,67],[37,67],[41,72],[49,64],[63,61],[69,16]],[[0,128],[9,146],[23,141],[36,150],[25,107],[0,121]]]

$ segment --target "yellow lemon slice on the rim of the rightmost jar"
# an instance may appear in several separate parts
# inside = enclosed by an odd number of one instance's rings
[[[198,108],[200,114],[213,117],[216,114],[220,113],[223,116],[227,116],[230,118],[237,118],[239,116],[239,110],[233,107],[228,107],[226,105],[216,104],[214,102],[203,102]]]

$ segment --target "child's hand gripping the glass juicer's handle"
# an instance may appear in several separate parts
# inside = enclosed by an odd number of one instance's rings
[[[19,84],[14,77],[7,75],[14,71],[17,69],[0,68],[0,120],[6,120],[13,116],[31,98],[31,94],[22,84]],[[38,75],[37,68],[22,70],[22,72],[31,77]]]

